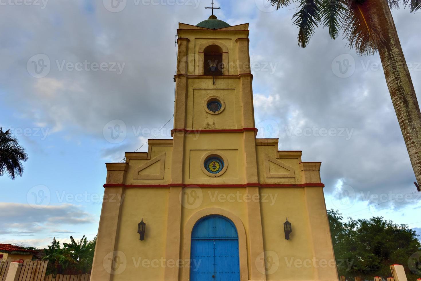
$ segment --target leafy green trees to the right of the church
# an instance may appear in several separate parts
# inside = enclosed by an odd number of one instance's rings
[[[370,280],[373,276],[387,277],[391,275],[389,266],[397,263],[415,278],[408,260],[421,251],[416,231],[383,217],[348,218],[344,222],[342,214],[333,209],[328,210],[328,217],[339,275]]]

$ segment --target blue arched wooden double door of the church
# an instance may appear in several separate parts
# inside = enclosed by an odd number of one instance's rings
[[[225,217],[200,219],[192,230],[191,281],[239,281],[238,234]]]

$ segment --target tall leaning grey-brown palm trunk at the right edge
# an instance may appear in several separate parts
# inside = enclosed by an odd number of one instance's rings
[[[379,46],[380,59],[412,168],[418,184],[421,184],[420,108],[392,13],[386,0],[378,1],[381,2],[381,9],[376,13],[382,13],[379,16],[385,19],[381,26],[384,42]]]

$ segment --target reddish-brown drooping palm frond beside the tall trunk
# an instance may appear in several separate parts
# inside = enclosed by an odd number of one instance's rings
[[[374,54],[384,40],[381,32],[377,1],[357,3],[349,0],[344,16],[344,36],[349,47],[355,48],[361,55]]]

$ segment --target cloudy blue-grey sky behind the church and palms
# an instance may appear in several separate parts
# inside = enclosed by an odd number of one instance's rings
[[[0,0],[0,126],[29,154],[23,177],[0,178],[1,243],[96,235],[104,162],[120,161],[172,117],[176,29],[207,19],[210,2]],[[323,29],[299,48],[294,6],[215,4],[219,19],[250,23],[258,137],[322,161],[328,208],[421,232],[421,196],[378,54],[360,58]],[[393,15],[421,93],[421,13]],[[119,139],[108,131],[115,125],[125,128]],[[172,126],[156,138],[170,138]]]

